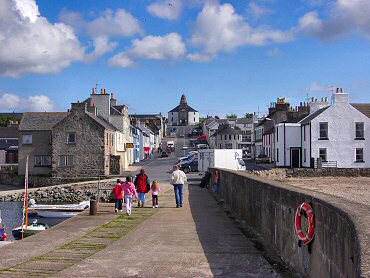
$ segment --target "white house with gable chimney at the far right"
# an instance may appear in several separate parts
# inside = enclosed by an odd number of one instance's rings
[[[370,167],[370,119],[342,89],[332,100],[297,124],[276,125],[277,166],[313,167],[321,158],[323,167]]]

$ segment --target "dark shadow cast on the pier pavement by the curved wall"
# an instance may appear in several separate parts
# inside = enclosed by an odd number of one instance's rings
[[[189,181],[189,206],[213,276],[280,277],[200,181]]]

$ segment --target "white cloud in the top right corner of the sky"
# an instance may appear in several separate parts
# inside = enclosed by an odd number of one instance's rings
[[[299,20],[299,27],[307,35],[323,40],[352,32],[370,38],[369,13],[369,0],[336,0],[331,6],[329,19],[322,20],[316,11],[312,11]]]

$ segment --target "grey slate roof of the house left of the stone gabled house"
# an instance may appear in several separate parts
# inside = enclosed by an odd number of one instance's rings
[[[19,130],[51,130],[53,126],[69,115],[69,112],[26,112]]]

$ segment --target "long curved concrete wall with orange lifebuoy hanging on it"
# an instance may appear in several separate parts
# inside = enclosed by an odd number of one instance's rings
[[[215,169],[211,169],[214,179]],[[220,170],[221,198],[230,211],[263,237],[287,264],[305,277],[369,277],[368,207],[246,173]],[[214,184],[214,180],[212,181]],[[298,246],[297,207],[312,202],[315,238]]]

